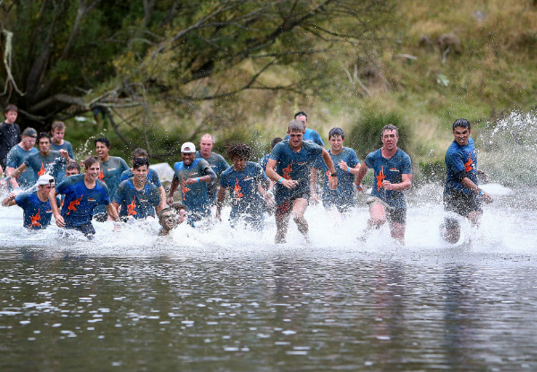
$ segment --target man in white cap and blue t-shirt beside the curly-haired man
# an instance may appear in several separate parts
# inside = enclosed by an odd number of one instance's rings
[[[192,222],[210,216],[210,199],[207,193],[209,182],[217,179],[207,160],[196,159],[194,143],[183,143],[181,146],[183,161],[174,165],[175,175],[167,197],[168,205],[174,203],[174,194],[181,186],[181,200],[187,206],[189,219]]]

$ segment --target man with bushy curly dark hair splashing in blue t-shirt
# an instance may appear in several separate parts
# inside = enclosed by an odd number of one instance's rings
[[[262,198],[270,203],[271,195],[263,188],[268,177],[258,163],[249,161],[251,148],[244,143],[235,143],[227,149],[227,158],[233,165],[220,176],[220,189],[217,197],[217,218],[221,220],[222,205],[229,189],[231,196],[230,223],[235,227],[243,221],[254,229],[262,229]],[[272,201],[272,203],[274,203]]]

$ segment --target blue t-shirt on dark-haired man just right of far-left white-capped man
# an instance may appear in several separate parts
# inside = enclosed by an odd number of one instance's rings
[[[86,187],[84,175],[67,177],[55,187],[56,193],[64,194],[64,206],[60,214],[68,227],[81,226],[91,221],[98,205],[108,205],[108,187],[97,180],[92,189]]]

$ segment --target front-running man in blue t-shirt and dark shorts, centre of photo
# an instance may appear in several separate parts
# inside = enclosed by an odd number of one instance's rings
[[[337,187],[337,173],[328,151],[317,143],[303,142],[303,122],[293,120],[289,123],[287,134],[290,139],[277,143],[266,169],[267,176],[276,182],[276,243],[286,242],[291,212],[299,231],[309,241],[308,222],[304,219],[304,212],[310,199],[311,165],[321,155],[332,176],[329,180],[330,188]]]

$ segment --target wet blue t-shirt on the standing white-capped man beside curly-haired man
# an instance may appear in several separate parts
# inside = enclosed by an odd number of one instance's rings
[[[190,165],[184,165],[183,161],[174,164],[175,178],[179,180],[179,189],[183,204],[188,208],[189,219],[199,221],[210,215],[210,199],[207,193],[207,182],[196,182],[192,185],[186,185],[187,178],[203,177],[212,169],[203,159],[194,159]]]

